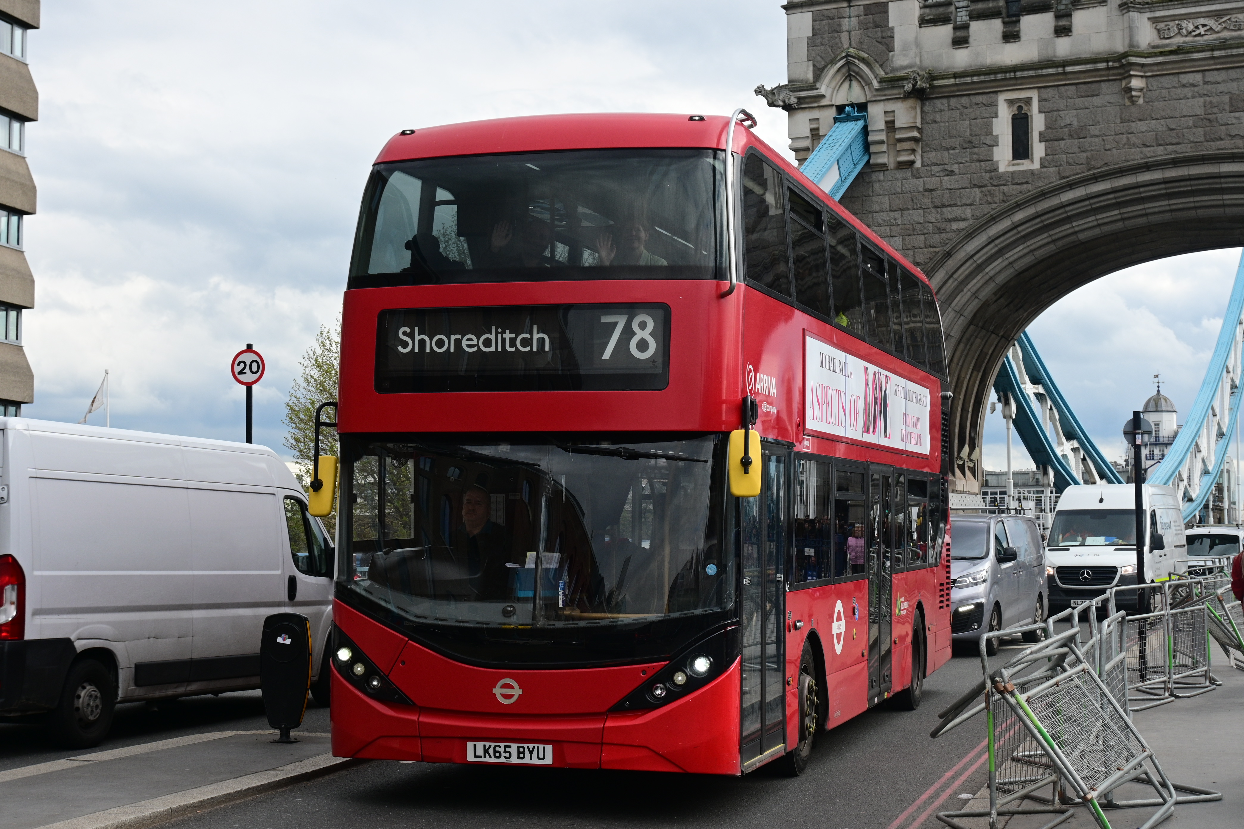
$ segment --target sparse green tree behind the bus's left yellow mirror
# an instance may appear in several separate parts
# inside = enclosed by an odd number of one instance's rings
[[[294,452],[294,461],[302,470],[297,475],[299,483],[310,492],[311,462],[315,459],[315,410],[321,403],[337,399],[337,380],[341,367],[341,318],[335,326],[320,326],[315,342],[302,354],[299,362],[301,369],[290,394],[285,399],[285,418],[281,423],[289,430],[285,434],[285,447]],[[325,409],[326,420],[336,419],[336,411]],[[320,430],[320,454],[337,455],[337,430]],[[337,511],[322,518],[330,536],[337,532]]]

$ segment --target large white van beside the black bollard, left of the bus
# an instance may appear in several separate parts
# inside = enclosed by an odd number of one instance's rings
[[[325,701],[332,567],[265,446],[0,418],[0,716],[87,747],[118,701],[259,687],[282,611],[311,620]]]

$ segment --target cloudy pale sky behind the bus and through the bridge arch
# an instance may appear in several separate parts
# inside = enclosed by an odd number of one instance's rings
[[[240,440],[228,363],[253,342],[269,363],[255,439],[284,454],[284,395],[337,316],[367,170],[398,129],[746,106],[786,147],[785,114],[751,92],[785,80],[778,2],[57,0],[42,24],[32,418],[78,420],[107,368],[114,426]],[[1154,372],[1187,408],[1220,322],[1204,297],[1225,300],[1237,257],[1132,268],[1034,326],[1108,449],[1127,414],[1112,401],[1130,410]]]

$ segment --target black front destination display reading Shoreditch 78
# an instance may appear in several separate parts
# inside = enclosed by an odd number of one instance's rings
[[[659,390],[669,383],[661,303],[382,311],[376,390]]]

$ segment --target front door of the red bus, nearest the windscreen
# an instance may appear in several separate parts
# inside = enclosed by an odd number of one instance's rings
[[[740,741],[749,763],[785,746],[786,528],[790,452],[764,444],[760,497],[740,498],[743,558],[743,700]],[[759,469],[758,469],[759,467]]]

